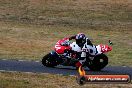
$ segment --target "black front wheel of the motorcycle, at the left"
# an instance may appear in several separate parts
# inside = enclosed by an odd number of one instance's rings
[[[42,59],[42,64],[46,67],[54,67],[57,66],[57,61],[54,57],[51,56],[51,54],[47,54]]]

